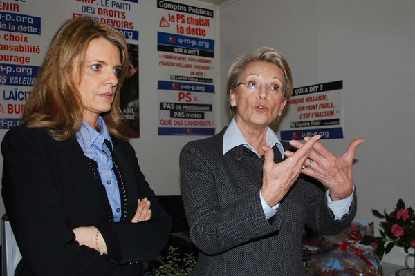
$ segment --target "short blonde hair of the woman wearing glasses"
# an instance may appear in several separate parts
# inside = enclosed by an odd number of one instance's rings
[[[288,66],[286,59],[281,55],[280,52],[270,47],[260,47],[246,55],[238,56],[232,61],[232,64],[228,71],[228,83],[226,85],[226,91],[228,97],[230,97],[230,90],[232,90],[237,83],[239,83],[239,77],[243,70],[249,63],[254,61],[266,61],[273,63],[278,66],[284,74],[284,99],[289,99],[293,94],[293,77],[291,76],[291,69]],[[234,107],[229,106],[233,112]]]

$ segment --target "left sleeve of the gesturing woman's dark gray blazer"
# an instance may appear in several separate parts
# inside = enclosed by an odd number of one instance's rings
[[[214,147],[211,148],[211,150]],[[181,151],[181,194],[192,242],[208,255],[216,255],[274,233],[281,226],[280,212],[268,221],[259,199],[259,189],[234,204],[221,206],[215,179],[221,179],[207,154],[196,143]],[[210,155],[212,157],[212,155]],[[219,160],[216,160],[219,161]],[[225,199],[226,200],[226,199]]]

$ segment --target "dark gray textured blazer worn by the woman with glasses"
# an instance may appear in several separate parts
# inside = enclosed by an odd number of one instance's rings
[[[259,199],[263,161],[244,146],[222,155],[224,132],[181,151],[183,205],[199,248],[192,275],[304,275],[304,225],[325,235],[339,233],[356,214],[356,192],[349,213],[335,221],[322,185],[300,175],[266,219]],[[273,149],[275,162],[282,161]]]

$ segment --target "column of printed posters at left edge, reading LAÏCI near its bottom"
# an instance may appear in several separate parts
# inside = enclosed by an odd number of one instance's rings
[[[44,19],[32,1],[0,4],[0,129],[10,129],[21,124],[24,103],[42,62]]]

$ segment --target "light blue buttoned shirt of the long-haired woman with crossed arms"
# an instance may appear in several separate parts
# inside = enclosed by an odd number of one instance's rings
[[[104,185],[105,191],[107,192],[114,221],[120,221],[120,190],[118,189],[118,181],[113,170],[113,161],[111,159],[113,144],[108,128],[101,116],[98,117],[98,129],[100,132],[93,129],[86,121],[82,121],[82,126],[76,134],[76,139],[84,151],[84,155],[98,164],[98,173],[100,174],[102,185]],[[111,150],[104,143],[106,139],[111,144]]]

